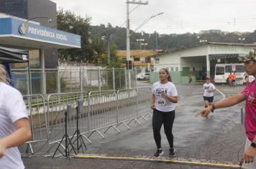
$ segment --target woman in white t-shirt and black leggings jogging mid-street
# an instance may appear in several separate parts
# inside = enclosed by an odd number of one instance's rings
[[[173,82],[171,82],[172,80],[168,69],[160,69],[159,79],[159,82],[155,82],[152,85],[152,128],[155,144],[157,145],[157,151],[154,156],[159,157],[163,155],[160,135],[162,125],[164,125],[165,135],[170,145],[169,155],[174,156],[173,122],[175,118],[175,104],[178,102],[178,92]]]

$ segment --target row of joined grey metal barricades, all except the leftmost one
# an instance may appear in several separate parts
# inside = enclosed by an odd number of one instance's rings
[[[83,113],[76,115],[77,100],[83,100]],[[88,142],[89,137],[97,132],[101,137],[101,129],[117,127],[124,124],[129,129],[133,120],[139,122],[142,117],[147,120],[151,115],[150,87],[129,90],[101,90],[91,92],[70,92],[52,94],[47,97],[47,124],[49,130],[49,144],[60,143],[64,134],[65,111],[67,103],[72,105],[68,115],[68,135],[76,132],[76,120],[79,120],[79,130]],[[86,136],[88,134],[88,136]]]

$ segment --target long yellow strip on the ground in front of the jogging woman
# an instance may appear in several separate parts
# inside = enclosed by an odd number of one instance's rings
[[[206,163],[206,162],[196,162],[196,161],[184,161],[184,160],[165,160],[160,158],[129,158],[129,157],[109,157],[101,155],[75,155],[74,158],[94,158],[94,159],[106,159],[106,160],[142,160],[142,161],[152,161],[152,162],[164,162],[164,163],[179,163],[186,165],[209,165],[224,168],[240,168],[240,165],[229,165],[222,163]]]

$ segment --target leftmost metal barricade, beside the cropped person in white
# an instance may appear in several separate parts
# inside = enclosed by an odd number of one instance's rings
[[[39,142],[47,143],[47,116],[45,112],[45,99],[42,95],[24,95],[25,105],[29,115],[29,125],[31,127],[32,139],[27,143],[27,151],[30,148],[34,153],[32,144]]]

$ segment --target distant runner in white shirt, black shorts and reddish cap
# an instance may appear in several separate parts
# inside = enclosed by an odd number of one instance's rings
[[[201,95],[204,96],[204,107],[208,107],[212,105],[214,102],[214,91],[215,86],[211,83],[210,77],[206,77],[206,83],[203,86],[204,90]]]

